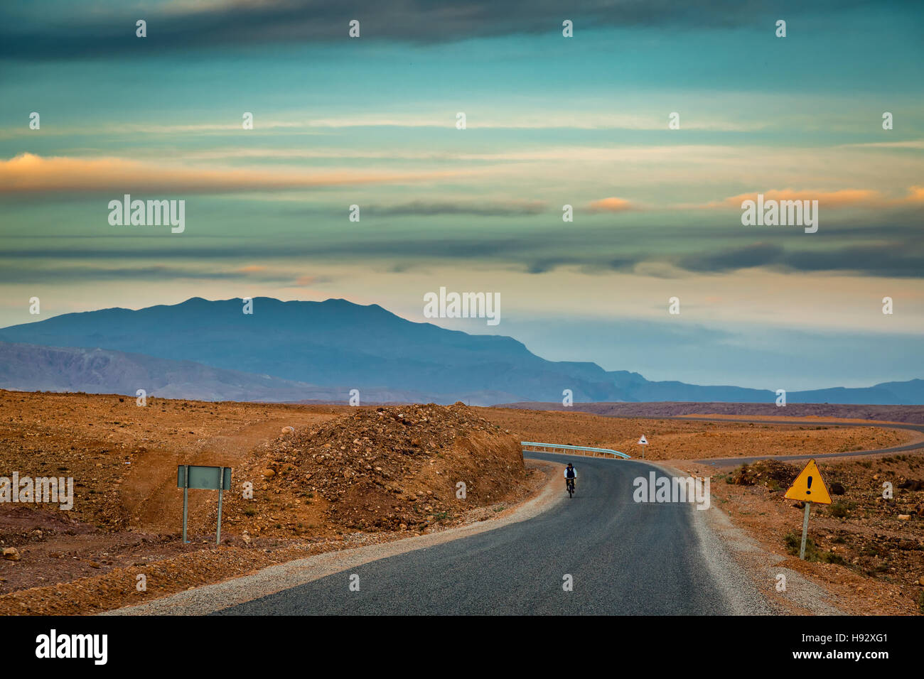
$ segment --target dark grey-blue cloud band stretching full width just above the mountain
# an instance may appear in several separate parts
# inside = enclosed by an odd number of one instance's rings
[[[874,231],[874,230],[873,230]],[[663,242],[674,240],[677,232],[665,234],[663,229],[652,234],[649,240],[638,241],[628,251],[614,250],[612,231],[585,229],[563,234],[557,227],[531,228],[529,238],[522,236],[522,228],[515,231],[495,228],[478,231],[471,236],[449,236],[434,229],[417,236],[352,235],[331,239],[313,239],[310,242],[286,242],[248,239],[243,243],[215,244],[209,241],[186,241],[177,249],[172,243],[154,244],[143,248],[103,248],[93,241],[91,249],[77,246],[57,248],[12,249],[9,243],[0,250],[0,263],[5,268],[6,282],[41,281],[43,276],[61,280],[60,276],[74,280],[91,280],[96,267],[104,278],[116,273],[113,262],[134,261],[139,268],[116,267],[118,276],[130,278],[133,271],[139,277],[164,273],[164,278],[227,277],[249,280],[295,280],[305,273],[288,273],[289,270],[309,265],[310,262],[363,261],[393,266],[395,271],[408,272],[433,264],[463,262],[466,265],[494,265],[529,273],[548,273],[565,267],[577,267],[587,273],[617,271],[636,273],[658,278],[676,278],[694,274],[734,273],[746,269],[764,269],[793,273],[861,274],[884,278],[924,277],[924,242],[915,234],[897,235],[887,241],[868,236],[845,242],[844,237],[830,232],[817,236],[794,236],[784,231],[767,231],[763,240],[754,242],[745,229],[739,234],[749,242],[728,247],[728,239],[697,237],[691,240],[678,238],[680,251],[664,251]],[[874,235],[874,234],[873,234]],[[166,242],[171,236],[165,236]],[[849,236],[847,236],[849,237]],[[121,241],[116,241],[120,243]],[[715,245],[712,245],[712,244]],[[723,247],[724,245],[724,247]],[[185,262],[180,270],[165,273],[151,269],[147,262]],[[225,262],[238,260],[236,268],[224,268]],[[252,261],[264,262],[260,266]],[[74,262],[82,261],[80,267]],[[59,269],[57,262],[60,262]],[[298,262],[298,264],[294,263]],[[41,264],[41,269],[36,268]],[[52,267],[52,268],[47,268]],[[304,270],[302,270],[303,272]],[[31,272],[31,273],[30,273]],[[214,273],[210,273],[214,272]],[[197,275],[198,273],[198,275]],[[24,277],[24,278],[23,278]],[[21,279],[21,280],[20,280]],[[305,278],[299,285],[317,283]]]

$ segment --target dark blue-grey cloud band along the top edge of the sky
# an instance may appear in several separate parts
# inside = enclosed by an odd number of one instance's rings
[[[861,0],[820,0],[817,12],[844,10]],[[888,3],[883,3],[887,5]],[[563,18],[577,30],[663,26],[678,29],[754,26],[761,18],[803,12],[801,0],[778,0],[760,11],[740,0],[587,0],[563,6],[553,0],[227,0],[145,7],[148,37],[135,36],[134,4],[87,12],[67,4],[55,11],[0,9],[0,58],[61,59],[127,57],[246,44],[344,42],[348,22],[358,18],[361,40],[412,43],[455,42],[472,37],[557,33]],[[62,30],[66,26],[67,30]]]

